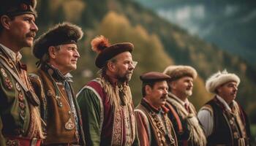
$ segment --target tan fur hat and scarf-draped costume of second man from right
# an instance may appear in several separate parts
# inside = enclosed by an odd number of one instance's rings
[[[197,77],[197,72],[191,66],[168,66],[165,74],[171,77],[170,82],[181,77]],[[206,137],[197,119],[195,107],[188,99],[182,101],[176,95],[168,93],[166,107],[169,109],[168,117],[176,131],[178,145],[205,146]]]

